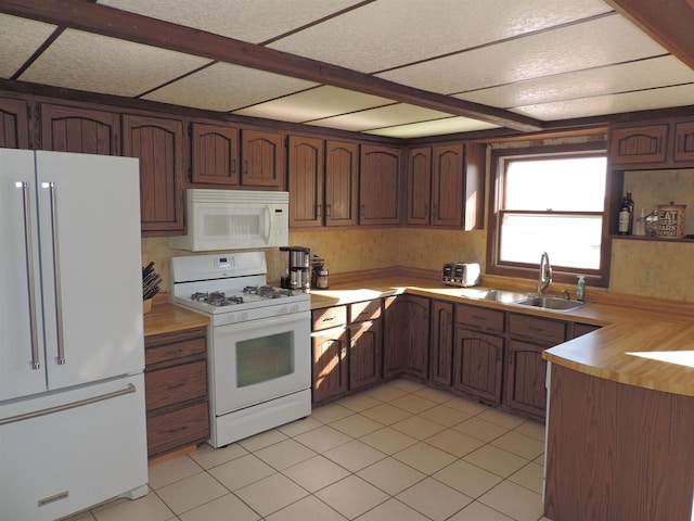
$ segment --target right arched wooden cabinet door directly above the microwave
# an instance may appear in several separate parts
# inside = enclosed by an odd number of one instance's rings
[[[284,189],[284,136],[279,132],[241,131],[241,183]]]

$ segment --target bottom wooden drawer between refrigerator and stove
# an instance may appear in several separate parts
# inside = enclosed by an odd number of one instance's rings
[[[209,437],[209,409],[206,402],[147,418],[150,458]]]

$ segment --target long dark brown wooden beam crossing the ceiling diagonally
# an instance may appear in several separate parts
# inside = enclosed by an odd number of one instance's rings
[[[0,0],[0,12],[388,98],[524,132],[544,128],[538,119],[494,106],[407,87],[317,60],[82,0]]]

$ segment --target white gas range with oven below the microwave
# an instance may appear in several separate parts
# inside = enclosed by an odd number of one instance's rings
[[[310,415],[309,294],[266,285],[264,252],[172,257],[171,277],[174,303],[210,318],[210,445]]]

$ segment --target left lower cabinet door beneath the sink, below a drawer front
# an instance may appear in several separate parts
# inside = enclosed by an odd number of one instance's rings
[[[500,403],[503,344],[501,336],[458,328],[453,386],[473,396]]]

